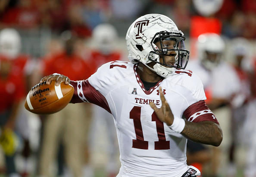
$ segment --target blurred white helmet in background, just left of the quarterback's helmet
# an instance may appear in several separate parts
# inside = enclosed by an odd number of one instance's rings
[[[109,54],[118,38],[117,30],[111,24],[99,24],[94,28],[92,39],[103,54]]]

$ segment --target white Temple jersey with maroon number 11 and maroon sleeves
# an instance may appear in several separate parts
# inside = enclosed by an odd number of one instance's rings
[[[149,102],[161,107],[161,86],[172,113],[181,118],[190,105],[206,99],[203,84],[191,71],[176,69],[147,91],[136,68],[124,61],[104,64],[88,80],[71,82],[75,87],[72,102],[92,102],[112,113],[122,164],[119,176],[179,177],[188,170],[187,139],[162,123]],[[197,112],[196,105],[187,120],[199,122],[200,115],[210,113],[209,120],[216,121],[210,110]]]

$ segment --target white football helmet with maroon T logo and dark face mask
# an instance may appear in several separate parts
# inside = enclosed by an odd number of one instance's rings
[[[184,34],[165,15],[148,14],[138,18],[129,27],[125,39],[131,63],[142,62],[147,66],[147,63],[155,62],[153,68],[147,67],[164,78],[171,75],[175,68],[185,69],[187,66],[189,51],[185,49]],[[163,39],[175,40],[176,45],[173,49],[163,48]],[[160,42],[160,49],[154,44],[156,41]],[[168,51],[176,53],[174,66],[165,63],[164,56]],[[160,63],[159,55],[162,55],[163,63]]]

